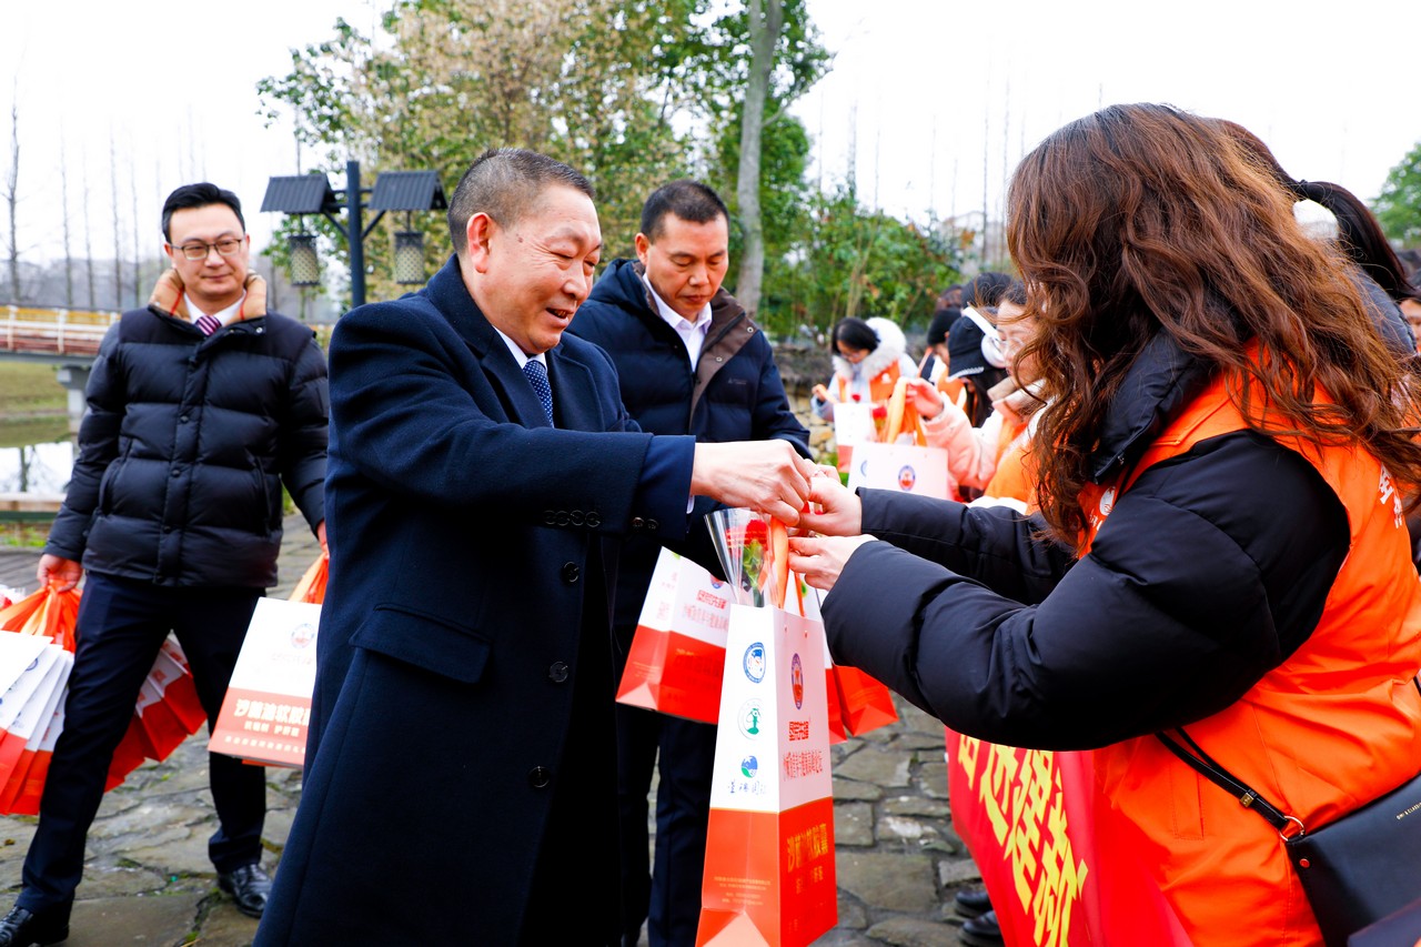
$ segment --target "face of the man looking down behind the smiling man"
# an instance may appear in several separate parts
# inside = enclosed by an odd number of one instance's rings
[[[730,269],[730,225],[723,215],[695,223],[666,213],[655,240],[637,235],[637,259],[647,267],[657,296],[678,316],[695,321]]]

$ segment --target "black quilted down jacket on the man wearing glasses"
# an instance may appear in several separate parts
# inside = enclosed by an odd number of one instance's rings
[[[281,483],[324,518],[330,394],[307,326],[270,313],[210,337],[124,313],[90,375],[45,552],[161,586],[276,584]]]

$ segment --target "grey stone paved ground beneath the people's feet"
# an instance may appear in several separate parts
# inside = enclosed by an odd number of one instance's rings
[[[315,549],[304,525],[288,520],[281,584],[273,594],[291,589]],[[0,553],[0,584],[33,589],[36,562],[33,552]],[[831,751],[838,926],[816,941],[823,947],[961,943],[952,893],[979,883],[979,874],[952,832],[942,727],[901,702],[899,715],[899,722]],[[263,845],[273,869],[300,799],[300,771],[267,774]],[[18,892],[34,822],[0,816],[0,910]],[[215,823],[205,734],[109,792],[90,833],[68,947],[250,944],[256,921],[217,890],[207,862]]]

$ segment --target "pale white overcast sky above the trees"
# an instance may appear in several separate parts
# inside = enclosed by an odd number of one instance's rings
[[[260,246],[276,223],[257,212],[266,181],[296,173],[297,154],[288,125],[269,129],[257,117],[254,85],[284,74],[293,47],[330,38],[337,16],[368,33],[377,4],[388,0],[7,0],[0,171],[10,166],[16,104],[21,253],[63,255],[61,164],[77,255],[85,218],[94,255],[109,255],[115,178],[125,257],[132,193],[136,239],[156,255],[162,196],[203,178],[242,196]],[[816,141],[811,175],[826,186],[844,181],[853,154],[860,196],[917,220],[983,203],[996,216],[1002,182],[1026,151],[1120,101],[1232,118],[1293,176],[1364,199],[1421,139],[1415,0],[809,6],[836,54],[796,107]]]

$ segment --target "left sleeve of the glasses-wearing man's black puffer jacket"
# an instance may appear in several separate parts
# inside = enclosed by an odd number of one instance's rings
[[[98,506],[98,488],[104,471],[118,456],[118,435],[124,425],[122,365],[115,357],[119,327],[112,326],[104,336],[98,355],[90,368],[84,390],[88,411],[80,422],[78,455],[70,474],[64,505],[54,518],[44,552],[78,562],[84,556],[90,520]]]

